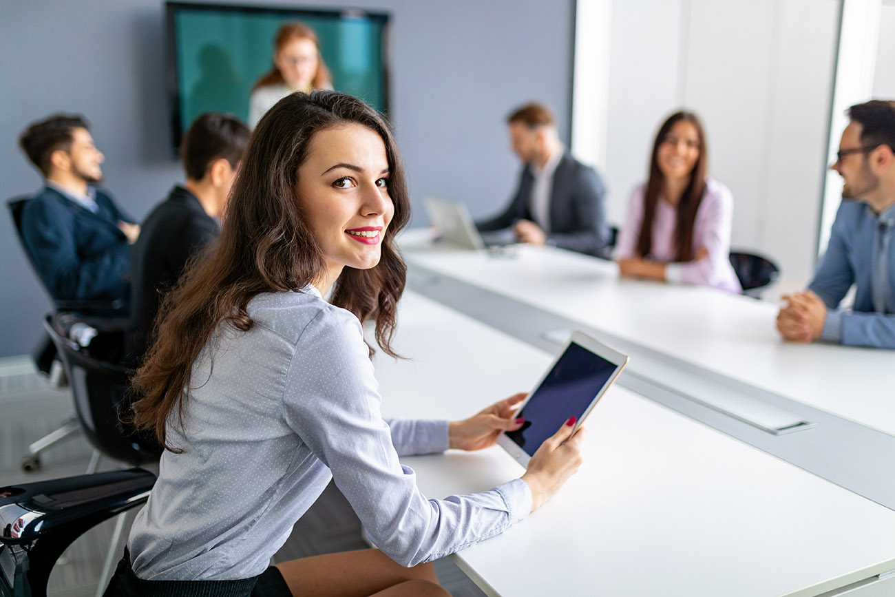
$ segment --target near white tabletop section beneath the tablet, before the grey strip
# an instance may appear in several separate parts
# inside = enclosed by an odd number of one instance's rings
[[[462,418],[530,389],[552,356],[410,291],[396,349],[409,360],[374,357],[383,413],[413,418]],[[554,499],[455,555],[486,593],[895,593],[891,509],[618,384],[586,426],[584,465]],[[497,447],[402,460],[430,498],[522,473]]]

